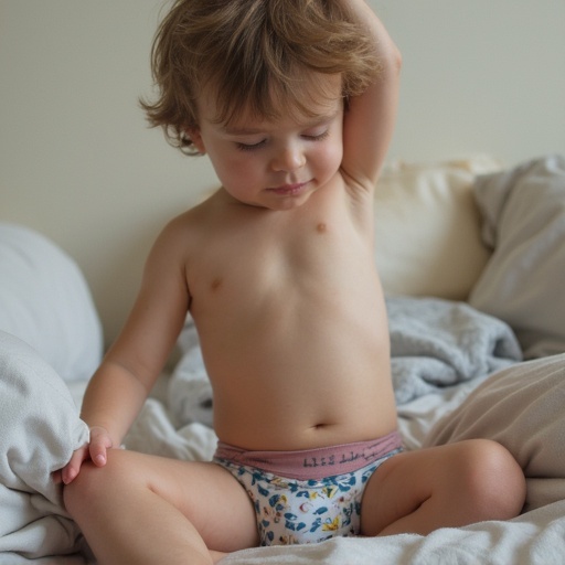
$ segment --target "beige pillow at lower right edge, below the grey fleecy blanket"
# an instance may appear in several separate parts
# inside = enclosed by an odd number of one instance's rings
[[[489,438],[524,470],[525,510],[565,498],[565,354],[499,371],[438,420],[423,447]]]

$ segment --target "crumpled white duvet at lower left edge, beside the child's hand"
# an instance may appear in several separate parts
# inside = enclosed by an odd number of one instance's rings
[[[51,473],[86,441],[68,388],[22,341],[0,332],[0,563],[70,554],[79,532]]]

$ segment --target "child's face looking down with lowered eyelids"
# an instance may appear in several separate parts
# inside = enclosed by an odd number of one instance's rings
[[[323,96],[307,92],[313,116],[265,120],[243,114],[225,126],[214,121],[212,96],[199,104],[200,129],[191,138],[206,152],[224,189],[246,204],[289,210],[305,203],[334,177],[343,156],[341,77],[322,78]],[[319,88],[319,82],[312,88]],[[319,92],[319,90],[318,90]],[[331,94],[328,97],[328,93]]]

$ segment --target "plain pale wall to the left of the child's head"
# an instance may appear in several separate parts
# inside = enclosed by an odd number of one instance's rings
[[[81,264],[115,337],[162,224],[215,184],[137,105],[158,0],[0,0],[0,220]]]

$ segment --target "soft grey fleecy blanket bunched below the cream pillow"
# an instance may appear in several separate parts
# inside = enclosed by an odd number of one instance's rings
[[[522,359],[507,323],[463,302],[395,297],[386,308],[398,404]]]

